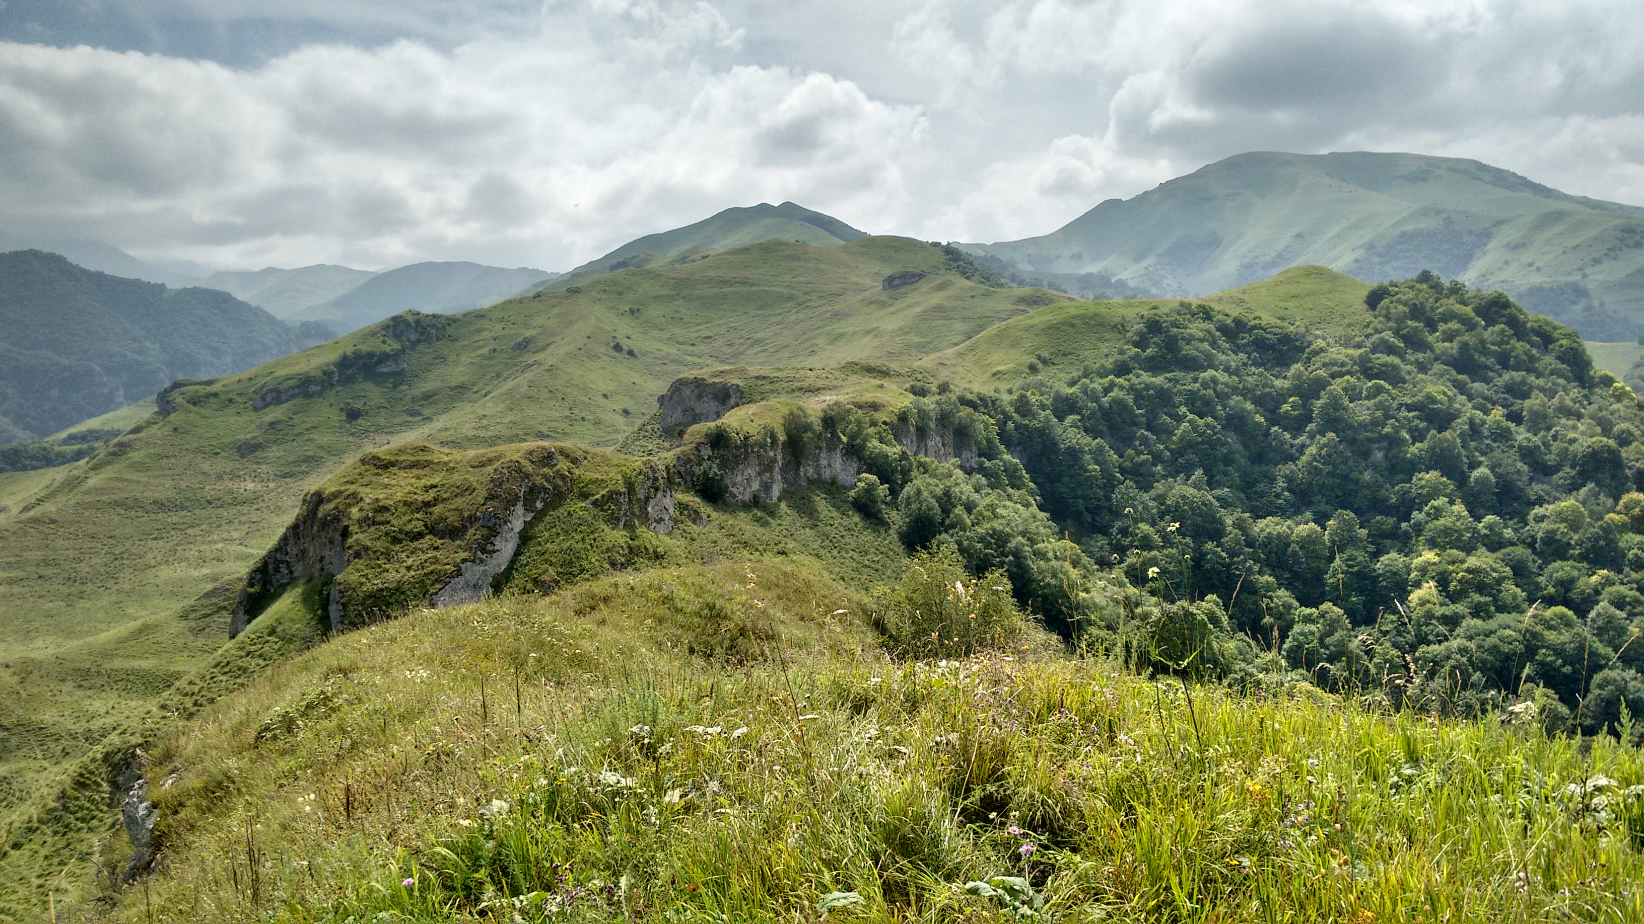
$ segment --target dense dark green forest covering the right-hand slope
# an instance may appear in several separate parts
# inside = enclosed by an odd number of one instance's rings
[[[901,411],[957,432],[968,475],[837,404],[784,436],[838,434],[863,510],[1003,569],[1088,649],[1621,728],[1644,710],[1637,396],[1501,293],[1422,273],[1366,309],[1333,340],[1184,301],[1103,367]]]

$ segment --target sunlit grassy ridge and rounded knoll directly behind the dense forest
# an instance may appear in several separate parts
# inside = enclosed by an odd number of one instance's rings
[[[1369,286],[1323,266],[1297,266],[1277,276],[1198,299],[1233,312],[1305,324],[1343,334],[1369,322]],[[975,339],[926,357],[924,372],[955,385],[990,386],[1039,372],[1046,365],[1078,370],[1115,355],[1129,319],[1159,301],[1070,301],[1014,317]]]

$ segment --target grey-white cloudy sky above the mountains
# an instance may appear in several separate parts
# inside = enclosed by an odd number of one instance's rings
[[[1644,204],[1637,0],[0,0],[0,230],[212,268],[566,270],[784,199],[1008,240],[1248,150]]]

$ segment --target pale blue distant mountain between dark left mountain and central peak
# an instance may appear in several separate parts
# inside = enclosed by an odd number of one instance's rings
[[[357,330],[406,309],[454,314],[482,307],[554,278],[521,266],[503,270],[480,263],[413,263],[372,276],[329,301],[294,311],[291,321],[319,321],[339,332]]]

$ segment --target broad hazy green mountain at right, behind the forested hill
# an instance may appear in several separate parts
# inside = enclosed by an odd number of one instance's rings
[[[1644,209],[1455,158],[1238,155],[1101,202],[1049,235],[967,248],[1029,273],[1108,273],[1166,296],[1305,263],[1368,281],[1432,270],[1501,288],[1593,340],[1644,330]]]

